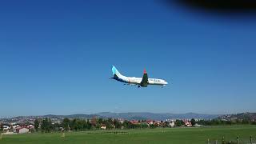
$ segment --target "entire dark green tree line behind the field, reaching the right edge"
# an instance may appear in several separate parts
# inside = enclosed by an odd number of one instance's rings
[[[199,120],[195,121],[194,118],[190,120],[191,125],[195,124],[203,125],[203,126],[218,126],[218,125],[237,125],[237,124],[254,124],[256,122],[251,122],[248,120],[237,120],[237,121],[226,121],[221,119],[213,119],[213,120]],[[167,122],[165,126],[167,125]],[[177,119],[175,121],[175,126],[184,126],[185,123],[182,120]],[[34,121],[34,129],[36,131],[40,130],[45,133],[49,133],[52,131],[82,131],[82,130],[100,130],[102,126],[106,126],[107,130],[112,129],[143,129],[143,128],[156,128],[158,125],[148,125],[146,120],[138,121],[138,124],[131,123],[127,120],[124,122],[119,122],[118,119],[114,118],[92,118],[89,119],[69,119],[64,118],[62,122],[53,123],[50,118],[42,118],[36,119]]]

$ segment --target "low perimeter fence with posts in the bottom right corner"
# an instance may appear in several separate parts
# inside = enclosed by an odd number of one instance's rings
[[[256,140],[250,136],[249,138],[237,138],[234,139],[225,139],[225,137],[222,137],[221,139],[207,139],[207,144],[256,144]]]

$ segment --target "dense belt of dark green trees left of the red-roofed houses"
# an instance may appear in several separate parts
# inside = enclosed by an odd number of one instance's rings
[[[102,126],[106,126],[107,130],[112,129],[140,129],[140,128],[155,128],[156,126],[148,126],[146,121],[139,124],[133,124],[129,121],[119,122],[118,119],[112,118],[93,118],[89,119],[69,119],[64,118],[62,122],[52,123],[50,118],[36,119],[34,121],[34,129],[49,133],[52,131],[82,131],[82,130],[100,130]]]

